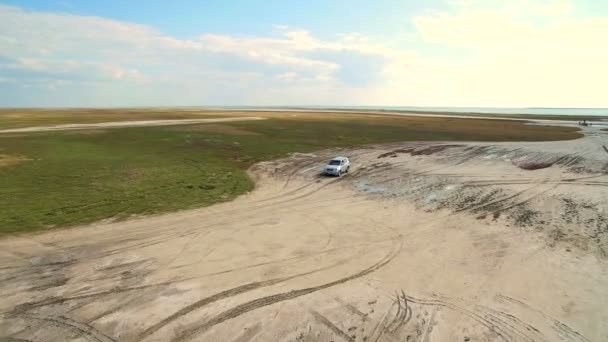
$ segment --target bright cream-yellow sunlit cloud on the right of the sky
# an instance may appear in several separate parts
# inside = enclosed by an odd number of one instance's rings
[[[525,3],[519,11],[467,5],[414,18],[424,41],[470,56],[418,65],[417,77],[447,84],[455,105],[607,106],[608,45],[600,37],[608,36],[608,16],[561,18],[570,11],[566,3]],[[545,20],[534,20],[538,13]]]

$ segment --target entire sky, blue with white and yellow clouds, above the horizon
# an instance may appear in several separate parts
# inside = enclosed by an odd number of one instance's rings
[[[608,107],[605,0],[0,0],[0,107]]]

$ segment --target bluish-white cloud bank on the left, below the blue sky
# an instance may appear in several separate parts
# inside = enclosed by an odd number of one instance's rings
[[[41,89],[72,87],[99,94],[121,89],[120,98],[127,101],[129,94],[144,101],[142,94],[148,93],[153,104],[180,98],[183,105],[283,101],[268,95],[275,92],[272,88],[294,94],[284,98],[307,103],[319,97],[305,97],[304,88],[330,87],[346,94],[361,85],[345,83],[344,74],[376,77],[350,70],[345,62],[351,56],[388,63],[406,56],[369,44],[356,33],[320,40],[301,29],[279,26],[276,30],[267,37],[202,34],[179,39],[144,25],[0,5],[0,73]],[[290,86],[277,84],[277,79],[289,81]],[[83,87],[77,89],[76,82]],[[53,101],[60,101],[59,96],[55,92]],[[66,105],[103,105],[107,100],[84,102],[91,98],[66,90],[64,100],[69,101]],[[0,92],[0,105],[13,100]]]

